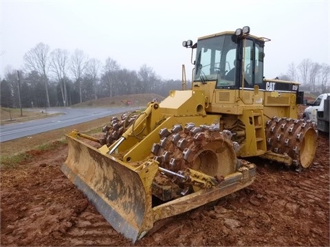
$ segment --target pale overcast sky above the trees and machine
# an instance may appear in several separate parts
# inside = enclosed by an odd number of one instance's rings
[[[265,45],[265,76],[286,73],[303,59],[330,64],[330,0],[276,1],[29,1],[1,2],[0,78],[23,69],[23,56],[38,43],[50,49],[81,49],[104,64],[152,67],[162,79],[180,79],[190,49],[183,40],[249,25]]]

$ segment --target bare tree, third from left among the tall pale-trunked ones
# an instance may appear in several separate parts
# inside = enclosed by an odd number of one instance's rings
[[[74,74],[74,78],[76,79],[76,82],[78,82],[80,103],[83,102],[81,82],[83,78],[83,73],[87,67],[87,62],[88,62],[88,57],[84,54],[84,51],[76,49],[71,57],[70,69]]]

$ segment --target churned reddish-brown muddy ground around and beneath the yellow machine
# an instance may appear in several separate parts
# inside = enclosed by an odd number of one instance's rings
[[[1,246],[133,246],[63,175],[66,145],[1,170]],[[329,246],[329,136],[297,173],[262,159],[255,182],[173,217],[135,246]]]

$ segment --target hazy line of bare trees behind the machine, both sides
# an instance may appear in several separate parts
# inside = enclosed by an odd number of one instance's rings
[[[66,49],[51,51],[44,43],[26,52],[23,63],[24,69],[8,69],[1,80],[1,106],[18,108],[20,99],[23,108],[71,106],[90,99],[135,93],[166,97],[168,91],[181,89],[180,80],[162,80],[146,64],[139,71],[124,69],[110,57],[102,64],[82,50],[76,49],[72,54]],[[318,95],[330,91],[330,66],[309,59],[297,66],[292,62],[279,79],[298,81],[300,91]]]

